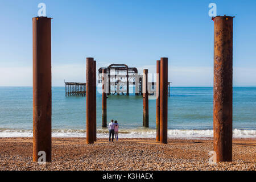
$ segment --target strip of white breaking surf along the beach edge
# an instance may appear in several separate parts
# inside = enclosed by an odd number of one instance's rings
[[[121,129],[119,138],[155,138],[155,129]],[[33,137],[32,130],[0,129],[0,137]],[[86,137],[86,130],[52,130],[52,137]],[[107,129],[97,130],[98,138],[109,137]],[[168,130],[169,138],[212,138],[213,130]],[[256,130],[233,130],[233,138],[256,138]]]

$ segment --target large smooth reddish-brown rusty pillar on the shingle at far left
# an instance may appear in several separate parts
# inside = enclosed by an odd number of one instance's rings
[[[33,23],[33,161],[46,152],[52,160],[51,18],[35,17]],[[43,161],[44,162],[44,161]]]

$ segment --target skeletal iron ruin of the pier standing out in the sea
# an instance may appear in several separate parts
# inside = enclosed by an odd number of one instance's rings
[[[128,67],[126,64],[111,64],[108,67],[98,69],[98,83],[102,83],[102,70],[105,70],[107,75],[107,93],[108,95],[127,95],[129,92],[129,85],[135,86],[135,95],[142,96],[142,82],[143,75],[138,74],[138,69],[135,67]],[[65,82],[65,80],[64,80]],[[168,82],[168,96],[170,96],[170,83]],[[154,95],[155,82],[148,82],[151,85]],[[128,89],[127,89],[128,88]],[[82,82],[65,82],[65,96],[86,96],[86,83]]]

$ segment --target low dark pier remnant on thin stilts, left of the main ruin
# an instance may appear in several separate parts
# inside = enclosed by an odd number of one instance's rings
[[[65,82],[65,96],[86,96],[86,83]]]

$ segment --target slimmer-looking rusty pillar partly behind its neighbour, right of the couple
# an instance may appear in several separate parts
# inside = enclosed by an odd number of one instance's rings
[[[156,141],[160,141],[160,61],[156,61]]]

